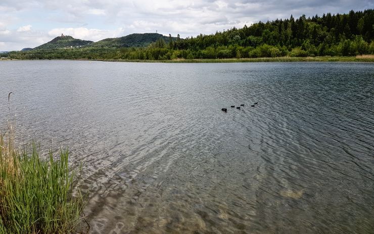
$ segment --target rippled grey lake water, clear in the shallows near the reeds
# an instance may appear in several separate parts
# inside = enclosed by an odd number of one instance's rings
[[[91,233],[374,231],[373,63],[4,61],[0,93],[83,163]]]

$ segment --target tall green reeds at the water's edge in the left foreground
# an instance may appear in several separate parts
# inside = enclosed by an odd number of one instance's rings
[[[59,159],[42,160],[35,144],[18,150],[14,131],[0,136],[0,233],[88,232],[82,225],[83,196],[68,166],[68,150]],[[74,192],[74,196],[73,196]]]

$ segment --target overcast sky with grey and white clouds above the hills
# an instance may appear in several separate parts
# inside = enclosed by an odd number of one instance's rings
[[[374,8],[372,0],[0,0],[0,51],[35,47],[64,33],[98,41],[131,33],[210,34],[233,26]]]

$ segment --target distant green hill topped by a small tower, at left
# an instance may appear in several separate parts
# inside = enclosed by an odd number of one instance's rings
[[[75,39],[72,36],[58,36],[55,37],[53,40],[46,42],[42,45],[39,45],[35,47],[35,49],[62,49],[62,48],[76,48],[85,46],[88,44],[94,43],[94,41],[90,40],[81,40],[81,39]]]

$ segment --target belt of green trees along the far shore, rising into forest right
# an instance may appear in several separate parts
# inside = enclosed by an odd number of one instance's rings
[[[9,59],[193,60],[374,54],[374,10],[349,14],[276,19],[210,35],[181,39],[169,35],[147,47],[89,47],[11,52]],[[291,60],[291,59],[290,59]]]

